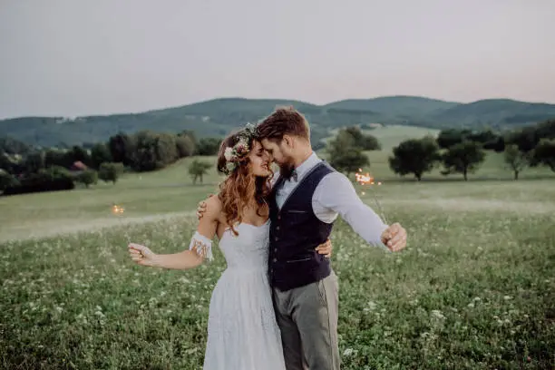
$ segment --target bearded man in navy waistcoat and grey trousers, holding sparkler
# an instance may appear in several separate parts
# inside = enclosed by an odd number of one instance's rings
[[[314,248],[338,215],[366,242],[391,251],[405,247],[406,231],[385,225],[351,181],[316,156],[299,112],[277,109],[258,125],[258,140],[279,166],[268,200],[268,273],[287,370],[338,370],[337,277]]]

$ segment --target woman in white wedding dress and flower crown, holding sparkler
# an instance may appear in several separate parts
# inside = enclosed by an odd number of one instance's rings
[[[269,166],[253,126],[229,135],[218,155],[218,170],[227,177],[218,196],[206,200],[189,249],[156,254],[140,244],[128,246],[141,266],[196,268],[212,259],[211,240],[218,237],[228,266],[210,299],[204,370],[285,370],[268,282]],[[329,257],[329,240],[316,250]]]

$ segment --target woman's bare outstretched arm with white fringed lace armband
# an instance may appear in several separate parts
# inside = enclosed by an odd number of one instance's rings
[[[204,217],[200,219],[199,226],[192,238],[188,250],[171,254],[155,254],[139,244],[129,245],[131,258],[134,251],[141,254],[140,257],[133,258],[143,266],[153,268],[187,269],[200,266],[204,258],[212,259],[212,239],[216,234],[219,223],[219,199],[211,197],[206,200],[207,209]]]

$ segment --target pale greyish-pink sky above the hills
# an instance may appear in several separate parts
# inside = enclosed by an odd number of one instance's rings
[[[554,0],[0,0],[0,118],[216,97],[555,102]]]

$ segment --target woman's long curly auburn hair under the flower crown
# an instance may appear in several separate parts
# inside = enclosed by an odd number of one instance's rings
[[[270,193],[269,180],[273,176],[270,170],[268,177],[253,176],[248,165],[250,160],[248,154],[237,162],[234,170],[230,172],[226,169],[228,161],[225,157],[226,148],[233,148],[241,138],[239,131],[230,134],[225,138],[218,152],[217,168],[220,173],[228,174],[226,180],[219,184],[218,198],[222,204],[226,222],[231,231],[237,236],[239,233],[234,229],[234,225],[243,220],[243,213],[248,207],[256,207],[258,216],[267,207],[267,197]],[[254,146],[253,139],[248,142],[249,150]]]

